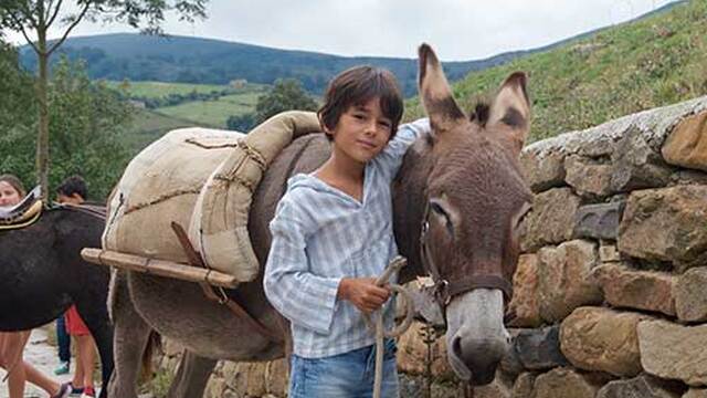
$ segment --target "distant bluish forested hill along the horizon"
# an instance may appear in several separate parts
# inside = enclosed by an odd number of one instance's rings
[[[479,61],[447,62],[444,67],[454,81],[469,71],[499,65],[532,51],[537,50],[509,52]],[[391,70],[400,80],[405,96],[414,95],[418,73],[414,59],[346,57],[209,39],[130,33],[70,38],[57,54],[72,60],[83,59],[92,78],[222,85],[240,78],[273,84],[277,78],[294,77],[316,95],[324,92],[333,76],[354,65],[373,64]],[[21,49],[20,59],[24,67],[35,70],[36,60],[29,48]],[[59,57],[53,60],[56,62]]]

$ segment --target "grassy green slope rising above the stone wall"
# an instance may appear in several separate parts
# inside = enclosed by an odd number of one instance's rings
[[[707,1],[694,0],[453,84],[465,108],[513,71],[530,77],[530,140],[707,94]],[[418,100],[405,117],[422,115]]]

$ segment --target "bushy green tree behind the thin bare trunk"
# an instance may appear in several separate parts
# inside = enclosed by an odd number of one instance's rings
[[[24,85],[31,91],[32,82]],[[120,177],[133,154],[122,142],[134,112],[120,94],[102,82],[92,82],[82,63],[62,59],[48,85],[52,168],[49,180],[59,184],[80,174],[89,184],[91,199],[103,200]],[[21,115],[22,111],[15,111]],[[31,180],[34,169],[32,147],[36,135],[31,126],[13,123],[0,135],[0,172],[11,171]],[[3,126],[0,126],[2,128]],[[48,192],[51,193],[51,192]]]

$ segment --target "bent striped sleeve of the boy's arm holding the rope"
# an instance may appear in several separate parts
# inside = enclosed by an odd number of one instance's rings
[[[308,228],[295,206],[282,201],[270,229],[273,243],[263,281],[267,300],[291,322],[328,334],[341,279],[309,272],[305,254]]]

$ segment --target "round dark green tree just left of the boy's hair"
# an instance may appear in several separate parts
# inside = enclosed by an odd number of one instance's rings
[[[316,111],[317,102],[302,88],[299,81],[278,78],[270,93],[257,98],[254,125],[258,125],[281,112],[292,109]]]

